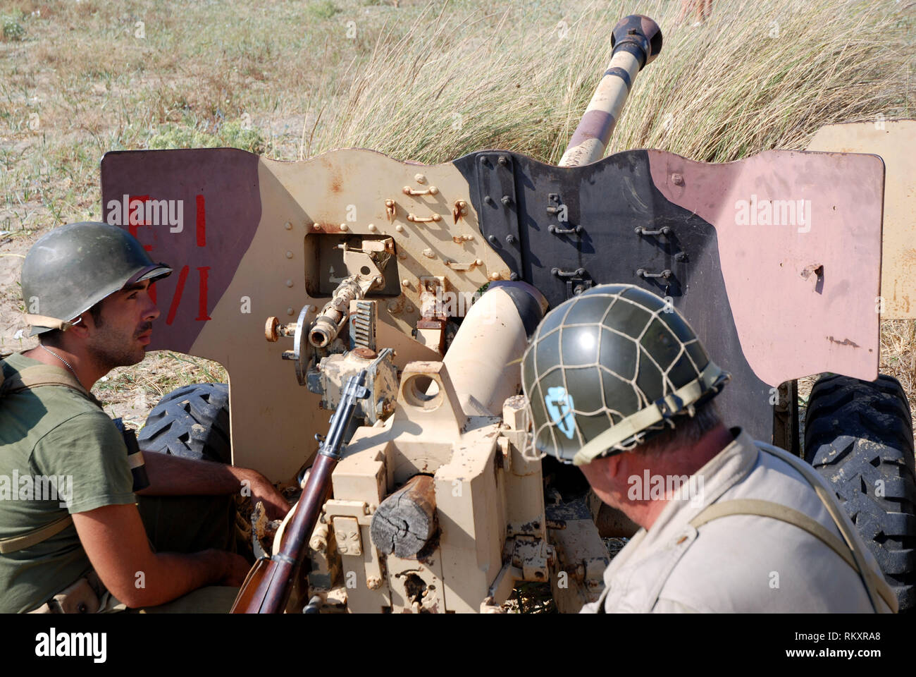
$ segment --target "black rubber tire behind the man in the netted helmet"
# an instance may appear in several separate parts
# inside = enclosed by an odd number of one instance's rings
[[[827,480],[897,594],[916,606],[916,469],[910,405],[897,379],[847,376],[814,383],[805,414],[805,461]],[[883,481],[884,496],[876,488]]]

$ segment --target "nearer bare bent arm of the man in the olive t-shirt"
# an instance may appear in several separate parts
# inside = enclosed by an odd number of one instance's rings
[[[102,583],[130,607],[161,605],[203,585],[241,585],[249,570],[224,550],[153,552],[136,505],[74,513],[73,525]]]

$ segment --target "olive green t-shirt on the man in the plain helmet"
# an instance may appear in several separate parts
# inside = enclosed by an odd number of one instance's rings
[[[7,378],[41,364],[19,353],[4,362]],[[132,489],[124,439],[85,394],[43,385],[0,395],[0,538],[68,513],[136,503]],[[0,612],[38,608],[90,569],[72,524],[31,548],[0,554]]]

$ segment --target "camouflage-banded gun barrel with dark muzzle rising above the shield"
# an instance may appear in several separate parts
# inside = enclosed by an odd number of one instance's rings
[[[611,61],[563,153],[561,167],[578,167],[605,157],[638,72],[661,51],[661,29],[649,17],[624,17],[614,27],[611,46]]]

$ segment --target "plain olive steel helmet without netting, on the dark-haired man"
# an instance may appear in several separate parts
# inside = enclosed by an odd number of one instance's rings
[[[54,228],[32,245],[22,265],[29,336],[66,330],[71,320],[126,284],[155,281],[170,272],[123,228],[93,221]]]

